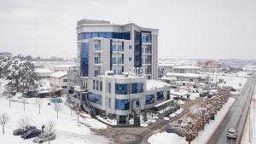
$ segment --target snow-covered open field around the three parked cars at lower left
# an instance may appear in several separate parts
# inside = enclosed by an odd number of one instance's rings
[[[2,83],[1,83],[2,82]],[[3,92],[3,80],[1,83],[1,93]],[[26,111],[23,110],[22,99],[15,97],[16,101],[11,102],[9,107],[9,100],[1,95],[0,97],[0,113],[7,112],[9,115],[9,123],[6,125],[5,134],[0,133],[0,143],[6,144],[29,144],[32,143],[32,139],[22,140],[20,136],[13,135],[13,130],[18,129],[18,122],[20,118],[26,117],[30,124],[35,125],[38,129],[43,124],[47,124],[49,121],[55,123],[56,140],[51,141],[52,144],[104,144],[108,143],[108,139],[94,134],[92,129],[106,129],[107,125],[102,124],[93,118],[79,118],[83,124],[78,124],[77,116],[75,112],[71,116],[69,107],[60,104],[61,110],[59,112],[59,118],[57,118],[55,107],[52,104],[48,105],[49,99],[44,98],[42,100],[41,114],[36,105],[36,99],[26,99]],[[39,100],[39,99],[38,99]],[[65,100],[63,100],[65,101]],[[2,126],[1,126],[2,129]],[[45,142],[47,143],[47,142]]]

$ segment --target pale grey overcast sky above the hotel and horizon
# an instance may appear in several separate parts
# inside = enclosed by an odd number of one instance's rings
[[[159,58],[256,58],[255,0],[0,0],[0,51],[75,57],[76,22],[158,28]]]

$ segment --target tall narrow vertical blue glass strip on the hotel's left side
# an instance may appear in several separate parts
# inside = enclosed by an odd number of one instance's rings
[[[88,77],[88,66],[89,66],[89,43],[82,43],[81,45],[81,76]]]

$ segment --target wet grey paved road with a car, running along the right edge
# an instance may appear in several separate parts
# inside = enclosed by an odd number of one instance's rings
[[[231,107],[222,123],[218,126],[218,130],[214,132],[208,144],[239,144],[242,131],[247,118],[248,107],[253,95],[253,87],[255,85],[256,76],[248,78],[247,84],[241,89],[240,95],[237,96],[237,101]],[[230,128],[238,130],[236,139],[227,139],[226,131]]]

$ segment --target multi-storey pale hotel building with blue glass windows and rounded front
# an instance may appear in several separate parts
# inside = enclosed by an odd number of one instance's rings
[[[169,87],[156,81],[158,32],[133,23],[79,20],[80,87],[87,95],[76,97],[88,101],[96,114],[116,118],[118,124],[128,124],[135,114],[166,101]]]

